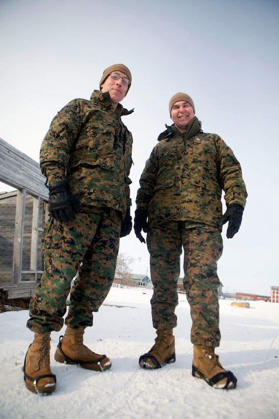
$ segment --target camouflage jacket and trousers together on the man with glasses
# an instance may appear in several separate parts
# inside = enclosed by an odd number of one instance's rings
[[[48,183],[67,179],[80,213],[61,223],[48,219],[42,236],[44,272],[30,302],[27,327],[34,332],[92,325],[92,312],[106,298],[114,280],[119,236],[130,208],[132,134],[121,115],[131,113],[109,92],[94,90],[90,100],[74,99],[58,112],[46,133],[40,165]]]

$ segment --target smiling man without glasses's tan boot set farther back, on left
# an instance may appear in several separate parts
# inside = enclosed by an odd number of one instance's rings
[[[157,330],[155,344],[150,351],[142,355],[139,364],[142,368],[156,369],[164,364],[175,362],[175,344],[172,329]]]

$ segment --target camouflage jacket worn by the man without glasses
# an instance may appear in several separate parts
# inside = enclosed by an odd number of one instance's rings
[[[159,135],[140,178],[137,208],[149,226],[187,221],[221,227],[221,194],[226,205],[245,206],[246,188],[233,151],[216,134],[201,130],[185,140],[173,126]]]

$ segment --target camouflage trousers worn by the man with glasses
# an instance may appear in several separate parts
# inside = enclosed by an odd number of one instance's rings
[[[49,218],[42,237],[44,272],[30,300],[27,327],[34,332],[59,331],[70,303],[65,323],[71,328],[93,324],[115,274],[121,228],[114,209],[103,211],[80,208],[74,221],[61,223]],[[73,277],[79,271],[71,287]]]

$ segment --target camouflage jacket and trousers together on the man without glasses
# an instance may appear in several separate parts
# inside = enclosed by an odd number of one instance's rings
[[[217,134],[204,133],[196,117],[187,132],[174,125],[159,135],[140,178],[136,203],[148,214],[153,325],[176,326],[177,280],[184,248],[184,288],[190,304],[191,341],[220,342],[217,261],[222,254],[221,194],[226,205],[245,206],[239,161]]]

